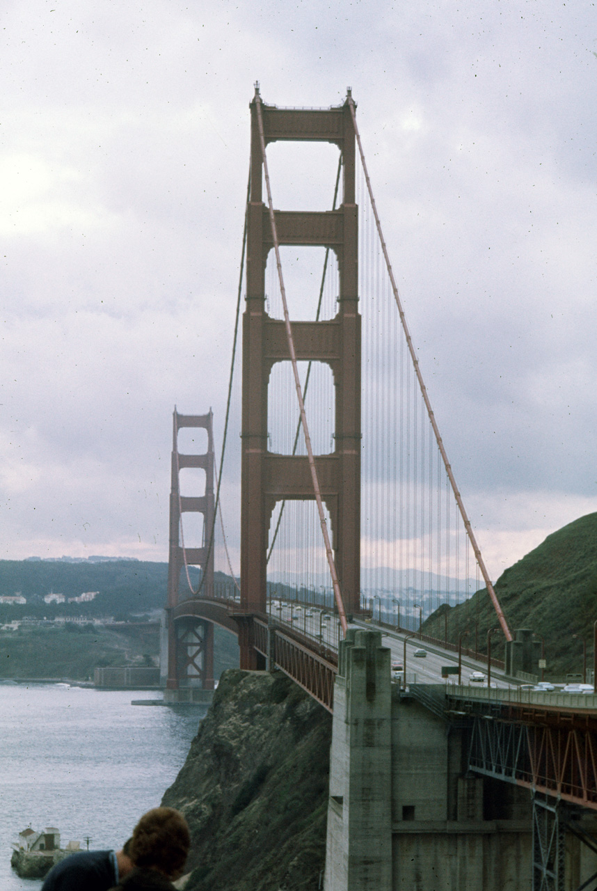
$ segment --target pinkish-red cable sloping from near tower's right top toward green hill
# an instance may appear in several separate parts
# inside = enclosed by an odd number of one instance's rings
[[[411,358],[413,360],[414,372],[417,376],[417,380],[419,381],[419,387],[421,388],[421,394],[423,397],[423,401],[425,402],[425,407],[427,408],[427,413],[429,415],[429,421],[431,423],[433,432],[435,433],[435,437],[438,442],[439,452],[442,456],[444,466],[446,467],[446,473],[450,480],[450,486],[452,486],[454,498],[456,499],[456,503],[458,504],[458,510],[460,511],[460,514],[462,517],[462,522],[464,523],[464,528],[466,529],[466,534],[469,536],[469,541],[470,541],[472,549],[475,553],[475,557],[478,562],[478,567],[481,570],[481,574],[485,580],[485,584],[487,585],[487,593],[489,593],[491,601],[494,604],[495,613],[497,614],[498,621],[499,621],[500,625],[502,626],[503,634],[507,641],[511,641],[512,635],[511,635],[510,628],[508,627],[506,617],[503,614],[503,609],[500,605],[500,601],[497,599],[497,594],[495,593],[494,586],[493,586],[493,584],[491,584],[489,574],[487,573],[485,561],[483,560],[483,557],[481,555],[481,552],[480,552],[478,544],[477,544],[477,540],[476,540],[475,535],[472,531],[472,527],[470,526],[470,519],[468,518],[467,512],[464,509],[464,504],[462,503],[462,497],[458,490],[458,486],[456,486],[456,480],[454,478],[454,473],[452,472],[452,466],[450,465],[450,462],[448,462],[446,449],[444,447],[442,437],[440,437],[440,435],[439,435],[438,424],[436,422],[435,415],[431,409],[431,403],[429,402],[427,388],[425,387],[425,384],[422,379],[421,369],[419,368],[419,360],[417,359],[417,356],[416,356],[416,353],[415,353],[415,350],[413,347],[413,340],[411,339],[411,334],[408,329],[408,325],[406,323],[405,311],[402,307],[402,301],[400,300],[400,296],[398,294],[397,284],[396,284],[396,280],[394,279],[394,273],[392,271],[392,266],[389,262],[388,249],[386,247],[386,242],[384,241],[384,238],[383,238],[383,233],[381,232],[380,217],[377,212],[377,206],[375,204],[375,199],[373,198],[371,180],[369,179],[369,173],[367,171],[367,165],[366,165],[365,159],[364,159],[363,145],[361,144],[361,136],[359,135],[358,127],[356,126],[355,102],[350,94],[348,94],[348,105],[350,107],[350,113],[352,115],[353,125],[355,127],[356,143],[358,144],[358,150],[359,150],[359,154],[361,156],[361,164],[363,165],[364,178],[365,178],[365,181],[367,184],[367,191],[369,192],[369,198],[370,198],[371,204],[372,204],[373,216],[375,217],[375,225],[377,226],[377,232],[378,232],[378,235],[380,236],[381,249],[383,251],[383,256],[386,261],[386,266],[388,268],[389,280],[391,282],[392,290],[394,292],[394,298],[396,300],[396,304],[398,307],[400,321],[402,323],[402,327],[405,332],[406,344],[408,346],[409,353],[411,354]]]

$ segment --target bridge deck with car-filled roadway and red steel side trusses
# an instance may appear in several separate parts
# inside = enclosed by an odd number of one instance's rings
[[[233,631],[238,629],[235,612],[243,615],[239,608],[234,601],[185,601],[176,607],[175,617],[200,616]],[[330,609],[296,602],[272,601],[268,609],[269,616],[253,620],[255,649],[332,712],[338,670],[337,619]],[[380,630],[391,660],[404,665],[405,633],[361,620],[353,626]],[[416,650],[425,650],[427,655],[416,657]],[[495,666],[492,689],[487,689],[470,683],[473,671],[487,676],[487,664],[468,655],[462,655],[462,683],[442,681],[441,667],[457,664],[454,651],[416,635],[410,637],[406,642],[408,689],[401,695],[419,698],[428,706],[435,702],[432,710],[444,720],[466,723],[469,766],[474,772],[597,810],[597,696],[524,690],[520,681]],[[396,675],[394,680],[398,681]]]

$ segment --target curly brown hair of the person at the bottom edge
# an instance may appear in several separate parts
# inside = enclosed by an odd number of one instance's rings
[[[135,826],[129,855],[135,866],[149,866],[173,878],[182,872],[190,844],[183,814],[174,807],[154,807]]]

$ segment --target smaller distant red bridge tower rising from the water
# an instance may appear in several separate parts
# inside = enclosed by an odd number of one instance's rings
[[[184,427],[203,428],[208,433],[208,450],[203,454],[180,454],[178,431]],[[214,436],[213,414],[179,414],[174,411],[172,444],[172,486],[170,492],[170,551],[168,560],[168,691],[181,687],[214,689],[214,625],[199,616],[175,617],[180,602],[192,599],[191,591],[181,596],[180,576],[184,567],[202,570],[200,596],[213,597],[214,548],[210,537],[214,525]],[[184,468],[205,470],[204,495],[180,494],[180,471]],[[181,535],[184,513],[203,515],[203,544],[185,547]],[[186,584],[186,582],[184,583]]]

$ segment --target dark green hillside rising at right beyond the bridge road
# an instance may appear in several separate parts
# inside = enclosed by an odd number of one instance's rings
[[[583,638],[587,664],[592,667],[593,622],[597,619],[597,513],[548,535],[534,551],[503,572],[495,583],[495,593],[512,632],[531,628],[544,636],[546,676],[581,670]],[[466,644],[471,646],[478,623],[478,649],[487,650],[487,628],[498,624],[487,589],[447,611],[451,640],[456,642],[459,632],[468,629]],[[426,634],[444,637],[445,612],[446,607],[440,607],[427,619],[423,625]],[[575,640],[573,634],[579,639]],[[501,649],[497,642],[496,634],[492,651]]]

